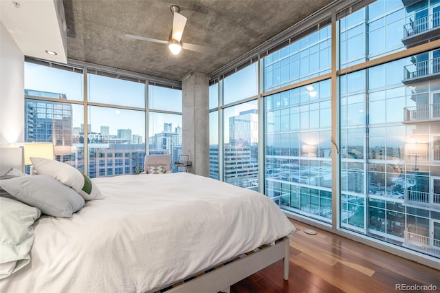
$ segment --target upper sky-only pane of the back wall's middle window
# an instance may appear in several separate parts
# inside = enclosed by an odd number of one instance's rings
[[[145,83],[100,76],[87,75],[89,102],[145,107]]]

